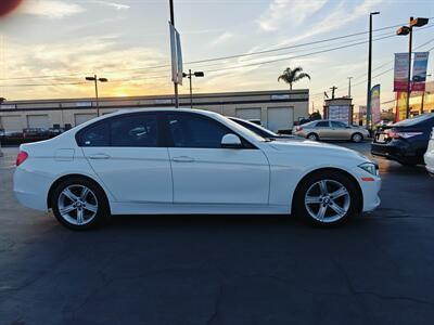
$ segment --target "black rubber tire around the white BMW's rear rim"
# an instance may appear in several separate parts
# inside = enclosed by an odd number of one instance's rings
[[[84,218],[82,217],[84,214],[81,214],[81,220],[85,220],[84,222],[86,222],[86,223],[79,224],[79,222],[77,222],[77,224],[74,224],[71,221],[68,221],[66,218],[64,218],[62,216],[61,211],[60,211],[61,200],[65,200],[65,199],[71,200],[67,196],[65,196],[62,193],[66,188],[84,188],[84,187],[90,190],[90,192],[89,192],[89,194],[87,196],[87,199],[92,200],[92,204],[95,203],[95,204],[92,205],[92,209],[94,209],[95,212],[87,211],[86,208],[81,208],[81,207],[78,208],[78,209],[85,211],[84,213],[88,213],[88,216],[92,214],[94,217],[92,217],[91,220],[90,220],[90,217],[89,217],[88,218],[89,221],[86,221],[86,217]],[[75,191],[75,190],[72,190],[72,191]],[[78,193],[73,193],[73,194],[78,195]],[[61,195],[62,195],[62,198],[61,198]],[[69,230],[85,231],[85,230],[94,229],[94,227],[101,225],[110,217],[108,202],[107,202],[107,198],[105,196],[105,193],[93,181],[90,181],[90,180],[88,180],[86,178],[72,177],[72,178],[68,178],[68,179],[62,181],[61,183],[59,183],[55,186],[55,188],[53,188],[52,195],[50,197],[50,202],[51,202],[51,207],[52,207],[54,217],[58,219],[58,221],[62,225],[64,225],[65,227],[67,227]],[[69,203],[71,205],[69,206],[73,206],[74,205],[73,203],[74,203],[74,200],[71,200],[71,203]],[[88,208],[90,206],[91,206],[91,204],[88,204]],[[97,208],[94,208],[94,207],[97,207]],[[74,210],[71,211],[69,213],[73,214]],[[76,213],[78,214],[78,212],[76,212]],[[77,218],[77,221],[78,221],[78,216],[76,218]]]

